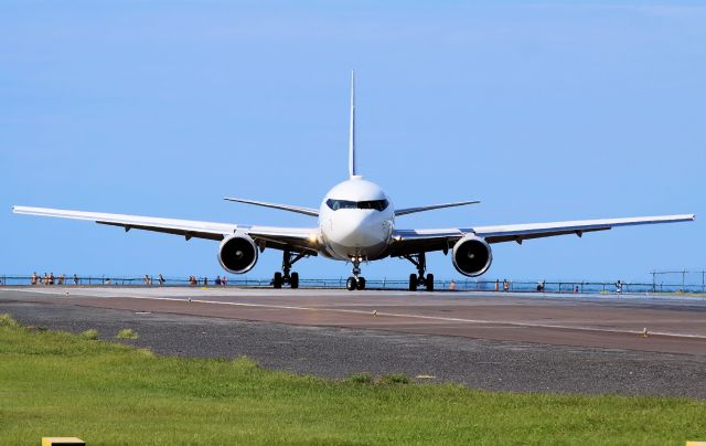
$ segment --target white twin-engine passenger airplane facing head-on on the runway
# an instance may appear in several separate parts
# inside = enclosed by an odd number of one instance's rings
[[[437,209],[477,204],[479,201],[459,201],[415,208],[395,209],[391,198],[374,182],[359,172],[355,152],[355,73],[351,73],[351,108],[349,130],[349,179],[334,185],[323,198],[319,209],[269,203],[239,198],[225,198],[231,202],[271,208],[318,217],[310,227],[276,227],[214,223],[203,221],[162,219],[140,215],[82,212],[61,209],[13,206],[17,214],[88,220],[99,224],[120,226],[126,232],[145,230],[175,234],[186,241],[192,237],[221,242],[217,258],[228,273],[244,274],[253,269],[258,253],[266,248],[282,252],[281,272],[275,273],[272,286],[299,287],[299,274],[292,265],[309,256],[350,262],[352,274],[346,280],[349,290],[365,289],[361,276],[363,262],[386,257],[409,261],[417,269],[409,275],[409,290],[419,287],[434,290],[434,274],[427,273],[426,254],[451,252],[456,269],[469,277],[484,274],[491,266],[491,245],[495,243],[550,237],[555,235],[582,236],[588,232],[607,231],[618,226],[688,222],[694,214],[659,215],[628,219],[581,220],[553,223],[468,226],[451,229],[398,229],[399,216]]]

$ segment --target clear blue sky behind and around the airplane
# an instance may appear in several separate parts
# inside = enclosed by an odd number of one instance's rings
[[[13,204],[315,225],[222,199],[319,205],[347,173],[351,68],[364,176],[397,206],[483,201],[398,227],[706,216],[704,42],[697,2],[3,1],[0,274],[222,273],[214,242]],[[649,279],[706,267],[705,234],[702,219],[500,244],[485,277]],[[280,262],[266,251],[248,276]]]

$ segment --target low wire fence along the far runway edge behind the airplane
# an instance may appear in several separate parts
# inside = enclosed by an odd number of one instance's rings
[[[652,283],[621,283],[621,291],[623,294],[706,294],[706,284],[696,283],[664,283],[655,279]],[[57,276],[54,277],[52,285],[45,285],[43,277],[38,277],[38,287],[44,286],[216,286],[213,278],[197,277],[195,284],[184,277],[167,277],[162,284],[156,277],[130,277],[130,276]],[[299,285],[302,288],[344,288],[346,277],[324,278],[324,279],[300,279]],[[544,293],[554,294],[614,294],[617,293],[617,284],[613,282],[546,282],[546,280],[513,280],[509,283],[509,290],[513,293],[531,293],[537,291],[538,283],[543,283]],[[0,276],[0,286],[28,286],[32,284],[31,276]],[[366,287],[368,289],[389,289],[404,290],[407,289],[408,279],[367,279]],[[221,286],[223,286],[221,284]],[[227,286],[237,287],[269,287],[271,279],[254,279],[254,278],[229,278]],[[494,291],[503,289],[502,280],[481,280],[481,279],[437,279],[435,280],[435,289],[459,291]]]

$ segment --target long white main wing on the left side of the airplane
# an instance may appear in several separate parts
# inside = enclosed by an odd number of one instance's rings
[[[63,209],[13,206],[15,214],[53,216],[58,219],[87,220],[98,224],[120,226],[125,231],[145,230],[182,235],[186,240],[207,238],[222,241],[235,232],[248,234],[261,246],[277,249],[295,248],[315,255],[318,252],[315,227],[248,226],[229,223],[201,222],[194,220],[161,219],[154,216],[108,214],[103,212],[69,211]]]

